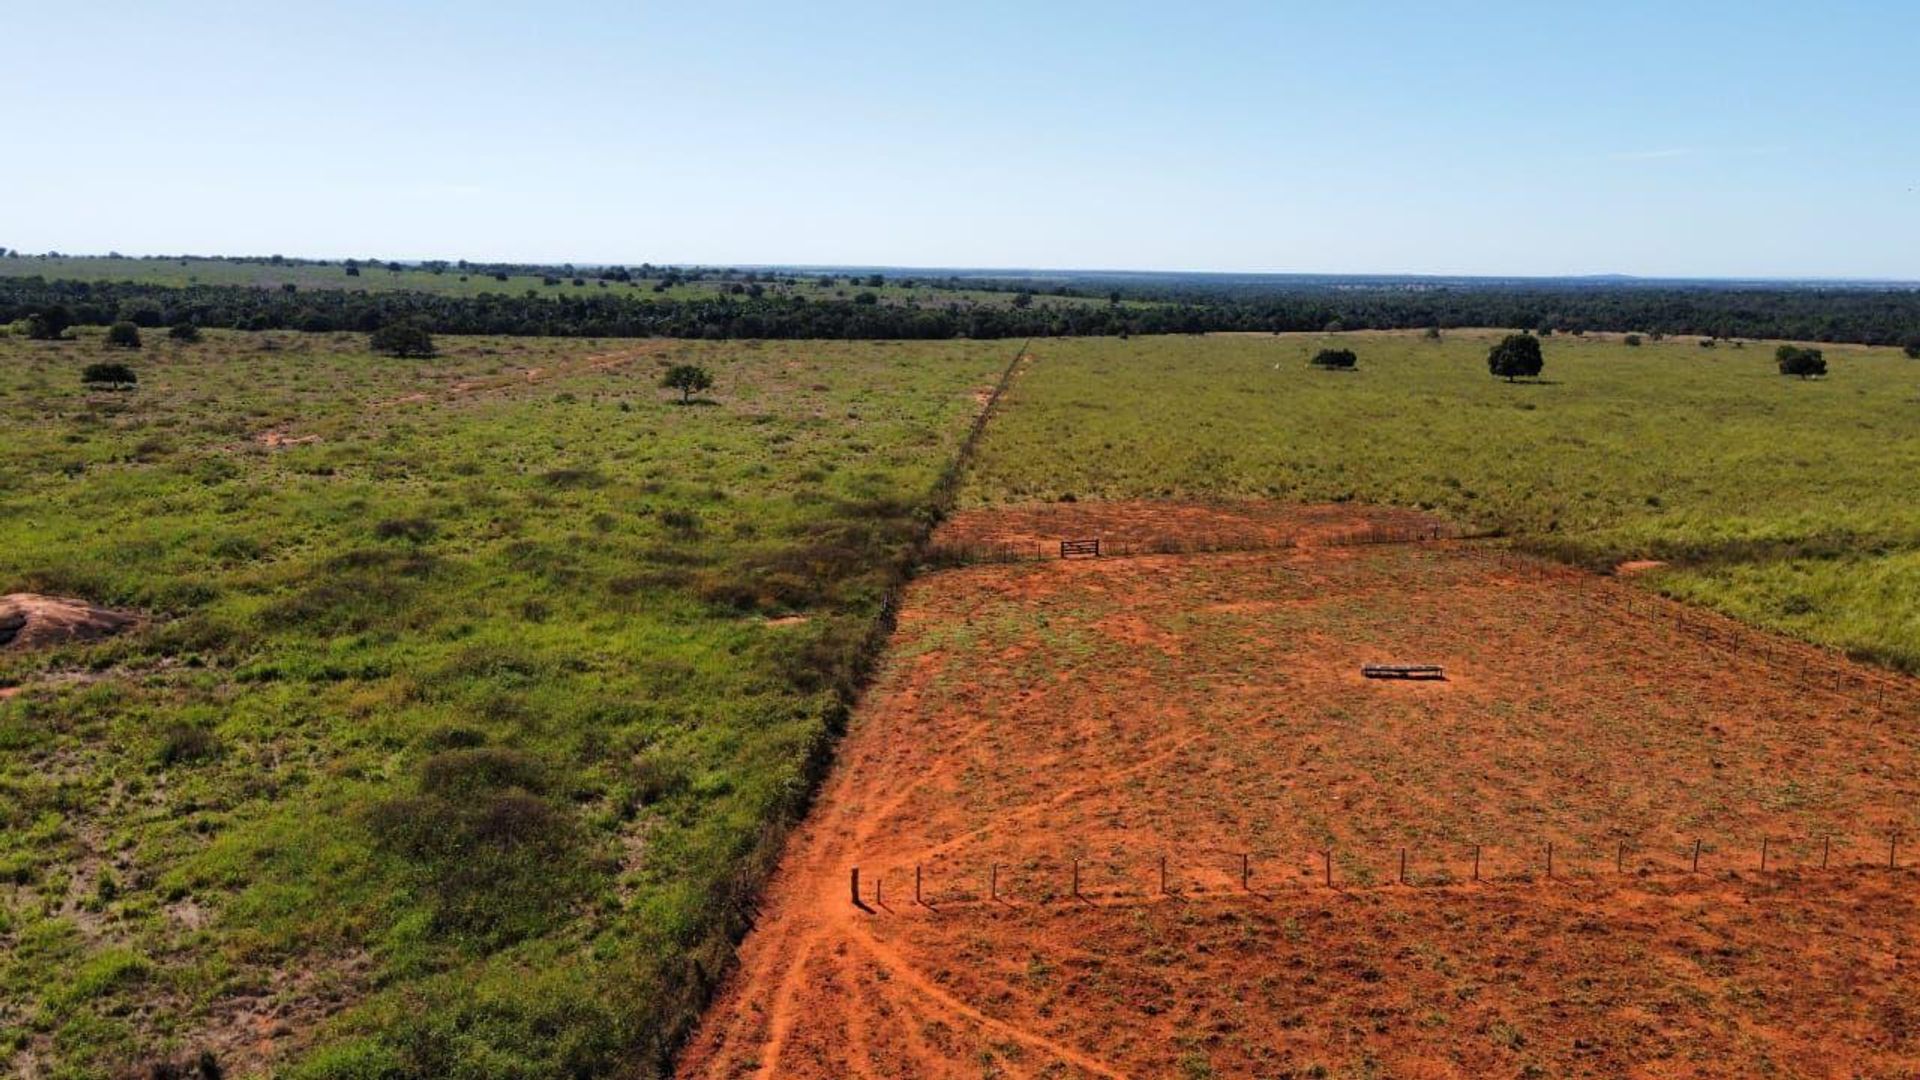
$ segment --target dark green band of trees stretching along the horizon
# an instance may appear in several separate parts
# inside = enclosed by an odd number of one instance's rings
[[[864,300],[864,302],[862,302]],[[1023,298],[1025,300],[1025,298]],[[71,325],[196,323],[240,331],[361,331],[413,321],[440,334],[593,338],[1025,338],[1210,331],[1382,331],[1511,327],[1853,344],[1920,340],[1920,292],[1887,288],[1302,286],[1265,296],[1121,304],[943,306],[872,298],[436,296],[336,288],[167,286],[0,279],[0,323],[60,309]]]

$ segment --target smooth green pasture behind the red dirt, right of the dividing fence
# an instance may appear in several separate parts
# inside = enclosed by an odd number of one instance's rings
[[[1507,530],[1757,625],[1920,671],[1920,361],[1826,346],[1546,338],[1544,382],[1486,373],[1494,332],[1046,340],[966,502],[1359,500]],[[1329,344],[1354,373],[1313,371]]]

